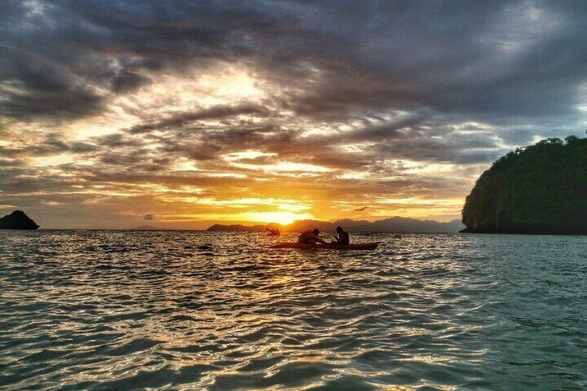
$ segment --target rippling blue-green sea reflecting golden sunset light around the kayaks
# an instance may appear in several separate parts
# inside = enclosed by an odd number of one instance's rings
[[[587,237],[294,239],[0,231],[0,388],[587,388]]]

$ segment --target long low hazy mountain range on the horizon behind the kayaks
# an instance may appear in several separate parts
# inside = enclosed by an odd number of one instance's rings
[[[282,231],[302,232],[318,228],[321,231],[334,231],[337,226],[342,226],[349,232],[399,232],[399,233],[456,233],[464,228],[460,220],[452,220],[446,223],[434,220],[418,220],[406,217],[390,217],[378,221],[343,219],[334,221],[300,220],[287,226],[280,224],[258,224],[255,226],[243,226],[241,224],[223,225],[214,224],[209,231],[246,231],[262,232],[266,228],[279,228]]]

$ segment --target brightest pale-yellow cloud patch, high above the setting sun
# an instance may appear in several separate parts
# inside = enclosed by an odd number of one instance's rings
[[[111,94],[105,112],[73,121],[66,124],[65,129],[83,140],[116,133],[148,118],[172,116],[218,104],[261,102],[267,96],[262,87],[276,88],[255,78],[246,66],[228,62],[210,62],[204,69],[155,72],[148,76],[152,80],[150,84],[132,92]]]

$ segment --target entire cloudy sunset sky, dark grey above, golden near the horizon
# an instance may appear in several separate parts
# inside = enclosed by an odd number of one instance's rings
[[[460,219],[587,127],[584,1],[0,1],[0,215]]]

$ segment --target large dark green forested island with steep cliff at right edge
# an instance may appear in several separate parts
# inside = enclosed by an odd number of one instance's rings
[[[483,172],[462,210],[469,233],[587,235],[587,138],[517,148]]]

